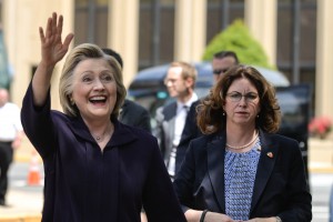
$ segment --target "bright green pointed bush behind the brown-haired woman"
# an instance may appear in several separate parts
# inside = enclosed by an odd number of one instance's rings
[[[241,63],[253,64],[272,69],[262,46],[251,36],[250,30],[242,20],[235,20],[224,31],[218,33],[208,44],[203,60],[211,61],[214,53],[230,50],[234,51]],[[274,69],[274,68],[273,68]]]

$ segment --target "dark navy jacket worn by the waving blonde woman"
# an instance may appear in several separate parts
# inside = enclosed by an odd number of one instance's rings
[[[160,154],[144,130],[112,119],[103,152],[83,120],[34,107],[31,84],[23,100],[23,129],[44,164],[46,222],[185,221]]]

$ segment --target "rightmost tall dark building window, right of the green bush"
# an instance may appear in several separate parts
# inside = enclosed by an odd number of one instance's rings
[[[278,67],[291,82],[313,84],[316,0],[283,0],[278,6]]]

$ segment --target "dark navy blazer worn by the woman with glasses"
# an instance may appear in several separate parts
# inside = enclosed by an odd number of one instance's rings
[[[262,131],[260,140],[250,218],[279,215],[283,222],[311,221],[312,196],[297,142]],[[224,133],[203,135],[190,143],[173,183],[183,211],[225,213],[224,153]]]

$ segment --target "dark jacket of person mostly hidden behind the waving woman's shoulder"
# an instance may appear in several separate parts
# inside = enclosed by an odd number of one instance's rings
[[[151,133],[150,113],[142,105],[131,100],[124,100],[119,121],[128,125],[141,128]]]

